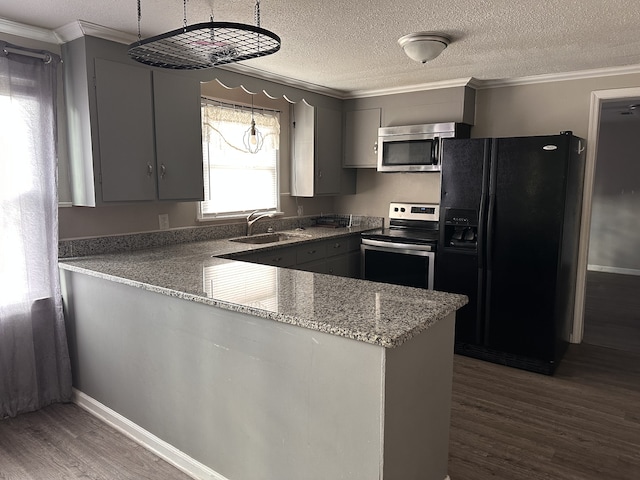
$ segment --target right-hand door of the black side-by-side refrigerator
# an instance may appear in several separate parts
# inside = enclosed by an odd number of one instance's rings
[[[553,360],[569,135],[494,139],[485,345]]]

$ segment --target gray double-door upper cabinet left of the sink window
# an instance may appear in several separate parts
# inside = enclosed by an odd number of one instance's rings
[[[63,56],[73,204],[201,200],[199,81],[94,37]]]

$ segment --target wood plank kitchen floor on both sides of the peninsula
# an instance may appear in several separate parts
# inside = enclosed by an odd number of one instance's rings
[[[553,377],[456,355],[451,416],[452,480],[640,478],[640,354],[571,345]],[[2,480],[187,478],[75,405],[0,421]]]

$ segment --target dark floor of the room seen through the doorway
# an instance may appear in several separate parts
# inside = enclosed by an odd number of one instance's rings
[[[583,341],[640,353],[640,276],[587,272]]]

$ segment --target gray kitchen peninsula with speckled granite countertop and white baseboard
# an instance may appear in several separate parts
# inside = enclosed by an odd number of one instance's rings
[[[196,478],[447,478],[466,297],[221,258],[269,248],[61,259],[78,403]]]

